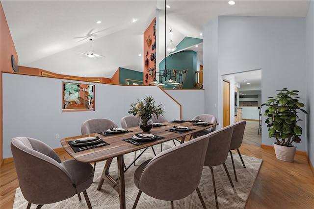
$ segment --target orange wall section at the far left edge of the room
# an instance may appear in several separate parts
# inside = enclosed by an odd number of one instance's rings
[[[14,56],[18,63],[18,54],[15,50],[8,23],[3,12],[2,4],[0,2],[0,86],[2,89],[2,71],[14,72],[11,66],[11,55]],[[0,163],[3,163],[3,124],[2,124],[2,91],[0,91]]]

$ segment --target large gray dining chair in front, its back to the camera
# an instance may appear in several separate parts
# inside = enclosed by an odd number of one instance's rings
[[[151,160],[142,163],[134,172],[134,184],[139,188],[133,209],[142,192],[159,200],[180,200],[194,190],[206,209],[198,188],[209,139],[202,136],[169,148]],[[192,157],[191,157],[192,156]]]

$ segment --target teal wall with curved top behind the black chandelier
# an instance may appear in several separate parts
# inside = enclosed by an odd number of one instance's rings
[[[195,71],[196,71],[196,52],[195,51],[181,51],[175,54],[171,54],[166,58],[167,69],[171,70],[187,70],[185,76],[185,81],[183,84],[183,89],[194,89],[195,85]],[[163,59],[159,63],[160,74],[162,70],[165,69],[165,60]],[[170,75],[167,79],[170,78]],[[175,80],[175,77],[172,75],[172,79]],[[164,83],[165,79],[159,76],[159,82]],[[165,89],[172,89],[176,86],[165,85]]]

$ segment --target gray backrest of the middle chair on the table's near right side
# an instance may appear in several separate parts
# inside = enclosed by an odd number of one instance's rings
[[[232,131],[233,126],[229,125],[206,135],[209,137],[209,144],[204,163],[205,166],[220,165],[227,160]]]

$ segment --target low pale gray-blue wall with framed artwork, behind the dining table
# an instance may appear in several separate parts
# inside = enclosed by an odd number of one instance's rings
[[[156,86],[119,86],[95,84],[95,111],[62,112],[62,81],[71,80],[2,73],[3,96],[3,158],[11,157],[10,141],[26,136],[39,139],[52,148],[61,147],[60,139],[80,135],[83,121],[105,117],[121,127],[123,116],[130,115],[130,104],[152,95],[162,104],[164,116],[170,121],[190,119],[204,113],[204,91],[172,91],[171,97]],[[77,82],[88,83],[88,82]],[[170,92],[169,92],[170,93]],[[195,102],[199,101],[199,102]],[[60,139],[55,139],[55,134]]]

